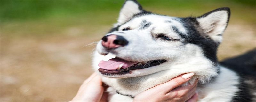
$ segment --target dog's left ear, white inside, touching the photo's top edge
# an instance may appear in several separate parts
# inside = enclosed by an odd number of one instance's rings
[[[120,10],[117,24],[123,24],[133,17],[133,15],[142,12],[141,5],[136,0],[126,0]]]

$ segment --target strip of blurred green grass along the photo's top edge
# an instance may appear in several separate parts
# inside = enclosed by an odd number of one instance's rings
[[[90,16],[118,12],[124,1],[1,1],[1,21],[48,17]],[[255,9],[255,1],[139,1],[145,8],[168,11],[203,11],[218,7]],[[255,10],[254,10],[255,11]],[[192,12],[191,12],[192,13]],[[255,12],[254,12],[255,13]]]

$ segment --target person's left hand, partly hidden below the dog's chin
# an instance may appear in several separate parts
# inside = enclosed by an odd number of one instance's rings
[[[70,102],[107,102],[106,86],[97,73],[93,73],[80,86],[76,96]]]

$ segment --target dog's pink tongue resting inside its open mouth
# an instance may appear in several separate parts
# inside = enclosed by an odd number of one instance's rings
[[[123,64],[123,69],[126,69],[130,66],[132,66],[133,64],[136,64],[137,62],[130,62],[130,61],[125,61],[119,58],[112,58],[108,61],[100,61],[99,63],[99,67],[106,69],[106,70],[114,70],[114,69],[118,69],[118,67]]]

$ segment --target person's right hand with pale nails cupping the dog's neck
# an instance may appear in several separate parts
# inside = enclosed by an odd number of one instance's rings
[[[197,80],[192,85],[178,87],[194,75],[193,72],[180,75],[173,78],[172,80],[156,85],[146,91],[136,95],[133,101],[144,101],[144,102],[196,102],[197,93],[196,86]],[[177,88],[176,88],[177,87]],[[157,92],[157,93],[156,93]]]

